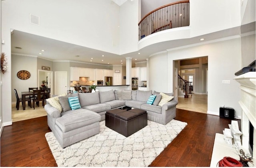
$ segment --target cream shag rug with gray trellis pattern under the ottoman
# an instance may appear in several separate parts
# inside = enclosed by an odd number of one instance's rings
[[[52,132],[45,134],[58,166],[145,167],[166,148],[187,123],[172,120],[166,125],[148,125],[125,137],[100,122],[100,133],[61,148]]]

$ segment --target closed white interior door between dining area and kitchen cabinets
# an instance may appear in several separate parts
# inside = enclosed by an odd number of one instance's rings
[[[54,95],[61,95],[68,91],[68,72],[55,71]],[[70,88],[69,88],[70,89]]]

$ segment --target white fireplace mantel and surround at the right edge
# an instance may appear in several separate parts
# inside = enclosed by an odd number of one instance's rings
[[[253,164],[256,165],[256,72],[248,72],[234,78],[240,83],[242,108],[241,132],[242,147],[249,151],[249,125],[254,127],[253,137]]]

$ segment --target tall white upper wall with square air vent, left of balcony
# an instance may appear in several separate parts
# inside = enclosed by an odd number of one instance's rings
[[[1,2],[4,27],[119,54],[119,6],[111,0]],[[30,14],[40,26],[30,24]]]

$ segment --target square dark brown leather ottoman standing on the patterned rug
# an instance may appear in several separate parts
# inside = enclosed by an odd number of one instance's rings
[[[126,137],[148,125],[148,114],[141,109],[113,109],[105,116],[105,125]]]

